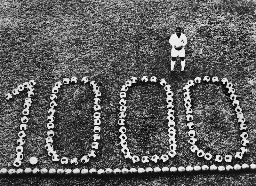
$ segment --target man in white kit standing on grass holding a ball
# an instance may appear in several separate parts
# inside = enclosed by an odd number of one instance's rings
[[[175,60],[177,56],[180,57],[181,71],[184,71],[185,68],[185,49],[184,46],[188,43],[186,35],[181,33],[181,28],[176,28],[176,34],[171,35],[169,43],[172,46],[171,56],[171,71],[175,65]]]

